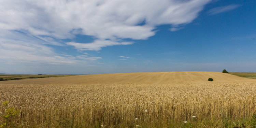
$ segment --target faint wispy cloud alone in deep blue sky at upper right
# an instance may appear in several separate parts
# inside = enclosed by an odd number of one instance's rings
[[[207,13],[210,15],[215,15],[218,13],[223,13],[223,12],[228,12],[228,11],[234,10],[234,9],[238,8],[239,6],[241,6],[241,5],[231,4],[231,5],[227,5],[227,6],[220,6],[220,7],[216,7],[216,8],[209,10]]]

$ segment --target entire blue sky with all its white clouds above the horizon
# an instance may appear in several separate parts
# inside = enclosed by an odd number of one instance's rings
[[[1,0],[0,73],[256,72],[255,0]]]

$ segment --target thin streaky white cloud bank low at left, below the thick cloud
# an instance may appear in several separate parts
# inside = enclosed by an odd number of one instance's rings
[[[101,57],[87,55],[71,56],[56,54],[53,49],[31,42],[0,42],[0,63],[29,63],[29,64],[51,64],[51,65],[88,65]],[[82,60],[79,60],[82,59]]]

